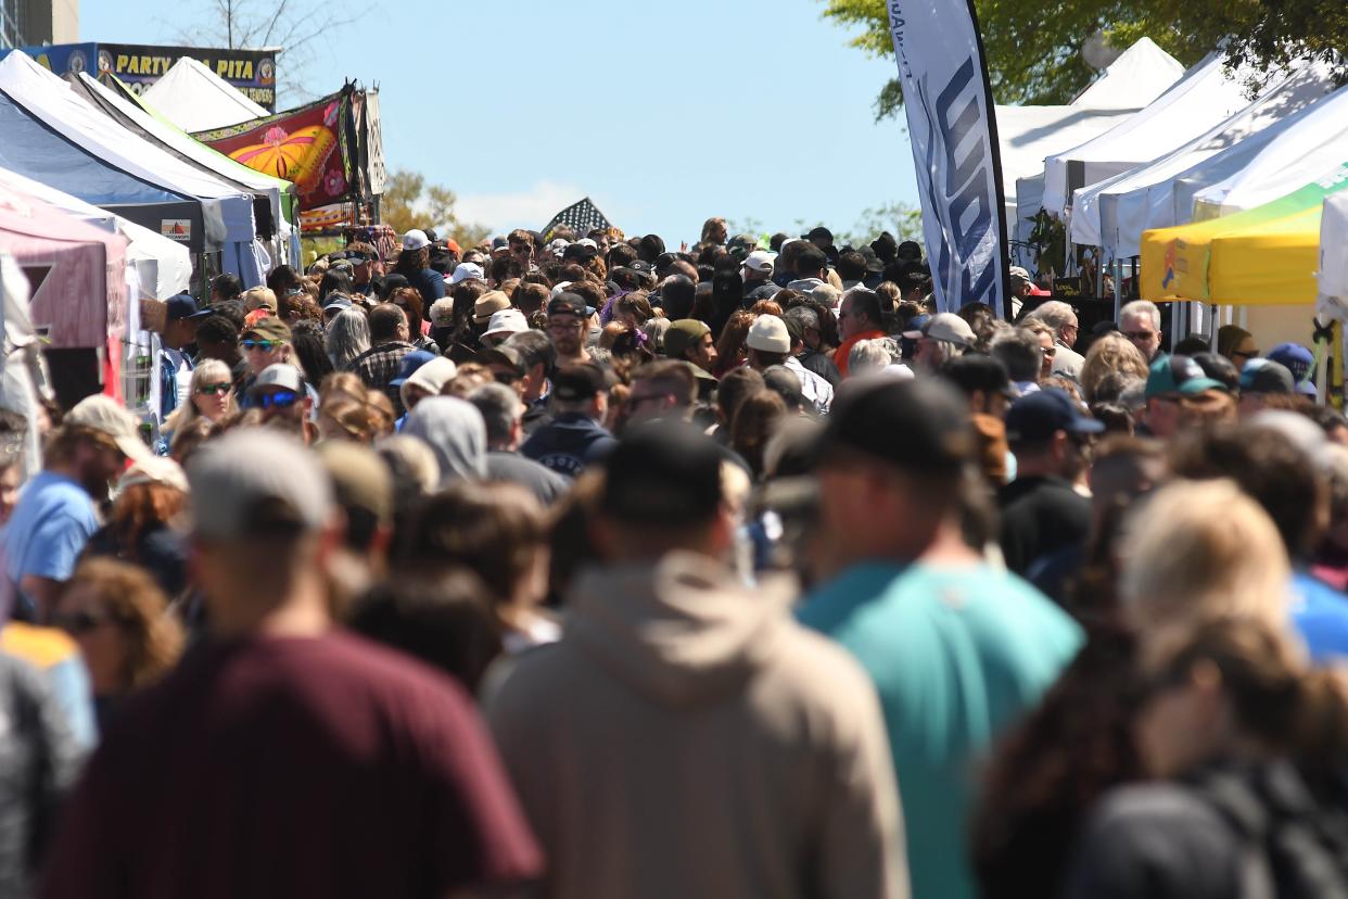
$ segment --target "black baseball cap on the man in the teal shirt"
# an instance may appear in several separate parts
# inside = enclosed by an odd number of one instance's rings
[[[820,456],[851,450],[906,470],[954,474],[975,453],[968,408],[940,379],[844,381]]]

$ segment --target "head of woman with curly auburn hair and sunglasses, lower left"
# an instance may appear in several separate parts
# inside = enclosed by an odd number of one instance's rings
[[[53,624],[80,646],[100,731],[121,700],[163,677],[182,654],[182,625],[163,592],[144,570],[115,559],[89,559],[75,569]]]

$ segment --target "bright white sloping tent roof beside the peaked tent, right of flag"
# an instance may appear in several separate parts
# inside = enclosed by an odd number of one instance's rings
[[[1120,175],[1184,146],[1248,105],[1240,80],[1212,54],[1142,112],[1078,147],[1045,160],[1043,208],[1062,214],[1070,189]],[[1069,163],[1073,173],[1069,187]]]

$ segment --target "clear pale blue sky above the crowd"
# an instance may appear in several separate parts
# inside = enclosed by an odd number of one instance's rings
[[[84,40],[177,43],[209,15],[206,0],[81,5]],[[674,241],[709,216],[847,230],[867,208],[915,204],[917,186],[903,127],[874,121],[892,63],[849,47],[822,8],[387,4],[324,36],[309,86],[377,84],[390,167],[495,229],[539,228],[588,194],[628,233]]]

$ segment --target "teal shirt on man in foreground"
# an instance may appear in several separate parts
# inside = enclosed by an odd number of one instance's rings
[[[973,896],[968,825],[979,764],[1072,660],[1081,629],[1033,586],[985,565],[856,565],[817,589],[799,619],[875,681],[913,895]]]

